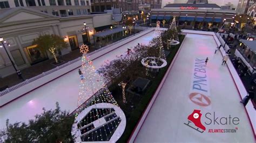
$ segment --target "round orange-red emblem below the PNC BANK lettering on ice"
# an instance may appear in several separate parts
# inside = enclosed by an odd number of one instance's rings
[[[208,106],[211,104],[211,100],[207,96],[199,94],[197,92],[193,92],[190,94],[190,100],[194,104],[197,104],[199,106]]]

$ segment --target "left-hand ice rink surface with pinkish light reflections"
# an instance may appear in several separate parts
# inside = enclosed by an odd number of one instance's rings
[[[93,65],[98,69],[101,65],[104,65],[104,61],[111,61],[116,59],[116,56],[126,54],[127,48],[133,48],[138,43],[147,45],[153,35],[154,31],[120,46],[93,60]],[[46,110],[55,109],[56,102],[59,102],[61,110],[72,112],[77,108],[79,83],[78,69],[73,70],[3,106],[0,109],[0,129],[6,127],[6,119],[9,119],[9,123],[26,122],[29,119],[34,119],[37,113],[42,113],[43,108]]]

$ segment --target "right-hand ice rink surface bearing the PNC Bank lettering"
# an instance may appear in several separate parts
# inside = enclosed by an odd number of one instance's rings
[[[214,54],[216,47],[212,35],[186,35],[177,59],[134,142],[255,142],[232,76],[227,66],[221,66],[223,56],[220,52]],[[202,65],[206,57],[209,60],[204,69]],[[193,92],[208,98],[194,96],[191,94]],[[201,110],[201,123],[206,127],[203,133],[184,125],[193,110]],[[214,113],[218,124],[220,118],[225,117],[227,125],[214,124]],[[234,117],[239,118],[238,125],[232,123]],[[225,118],[221,119],[221,123],[226,123]],[[234,129],[236,133],[208,133],[209,129]]]

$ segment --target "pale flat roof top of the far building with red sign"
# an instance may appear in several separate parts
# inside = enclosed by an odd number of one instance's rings
[[[196,7],[196,8],[220,8],[219,5],[217,4],[188,4],[188,3],[172,3],[172,4],[167,4],[164,6],[164,8],[178,8],[178,7]]]

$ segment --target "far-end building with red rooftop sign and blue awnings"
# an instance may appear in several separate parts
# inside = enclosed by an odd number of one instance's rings
[[[234,15],[235,11],[220,10],[216,4],[167,4],[164,9],[151,10],[151,23],[166,20],[169,24],[176,17],[180,27],[218,31],[224,24],[232,23]]]

